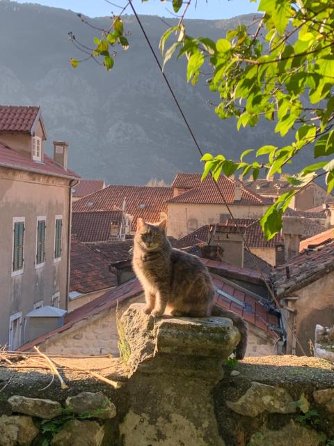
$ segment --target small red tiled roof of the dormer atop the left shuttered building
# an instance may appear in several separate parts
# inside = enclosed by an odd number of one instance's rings
[[[0,105],[0,132],[31,133],[40,107]]]

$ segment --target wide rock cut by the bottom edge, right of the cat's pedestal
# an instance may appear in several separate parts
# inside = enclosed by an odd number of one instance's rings
[[[278,431],[262,427],[250,438],[248,446],[318,446],[322,440],[322,436],[313,429],[291,421]]]

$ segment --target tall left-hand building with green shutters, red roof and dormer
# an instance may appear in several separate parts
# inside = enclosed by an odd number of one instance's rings
[[[47,133],[39,107],[0,106],[0,344],[25,341],[26,314],[67,307],[72,187],[67,143]]]

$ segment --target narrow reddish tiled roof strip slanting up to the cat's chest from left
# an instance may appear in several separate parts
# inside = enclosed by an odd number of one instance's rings
[[[117,286],[116,288],[107,291],[99,298],[92,300],[91,302],[82,305],[72,312],[65,314],[64,323],[61,327],[52,330],[51,332],[42,334],[42,336],[33,341],[29,341],[20,348],[19,351],[29,351],[33,346],[40,345],[42,342],[47,341],[51,337],[61,334],[66,330],[69,330],[78,322],[84,320],[89,322],[89,318],[95,316],[95,314],[100,314],[109,311],[111,308],[116,307],[117,302],[122,302],[126,299],[131,299],[136,297],[136,295],[141,294],[143,291],[141,289],[141,284],[137,279],[131,279],[124,284]]]

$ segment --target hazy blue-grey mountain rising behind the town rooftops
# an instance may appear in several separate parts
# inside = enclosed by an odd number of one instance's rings
[[[166,24],[159,17],[141,19],[158,52]],[[70,167],[84,178],[145,184],[152,177],[170,181],[176,171],[200,171],[200,155],[134,16],[123,20],[131,33],[130,47],[127,52],[117,49],[113,70],[106,72],[93,61],[74,69],[69,59],[83,54],[69,42],[68,33],[89,46],[99,31],[70,10],[0,1],[0,103],[41,105],[47,151],[51,153],[53,139],[67,140]],[[239,22],[252,20],[253,15],[187,20],[186,29],[190,35],[216,39]],[[89,22],[105,28],[110,19]],[[234,118],[221,121],[208,104],[217,97],[205,83],[186,83],[183,60],[170,61],[166,75],[202,151],[236,159],[246,148],[281,144],[271,123],[237,132]]]

